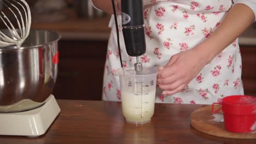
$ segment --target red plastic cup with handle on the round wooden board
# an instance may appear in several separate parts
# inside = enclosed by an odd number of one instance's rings
[[[214,105],[222,108],[214,110]],[[231,95],[222,103],[212,104],[212,113],[223,111],[225,129],[234,133],[248,133],[256,129],[256,97]]]

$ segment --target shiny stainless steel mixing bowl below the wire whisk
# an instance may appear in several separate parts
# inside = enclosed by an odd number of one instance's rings
[[[1,31],[10,36],[7,29]],[[0,47],[0,112],[44,104],[57,77],[60,38],[55,32],[31,30],[21,47]]]

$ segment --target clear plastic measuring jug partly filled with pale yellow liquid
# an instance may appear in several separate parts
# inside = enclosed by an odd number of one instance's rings
[[[150,122],[154,114],[156,75],[158,67],[143,67],[136,73],[134,68],[120,68],[121,103],[127,122]]]

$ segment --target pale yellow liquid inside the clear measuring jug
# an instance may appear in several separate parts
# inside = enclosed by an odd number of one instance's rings
[[[127,122],[146,123],[151,120],[155,107],[155,91],[143,94],[121,91],[121,101]]]

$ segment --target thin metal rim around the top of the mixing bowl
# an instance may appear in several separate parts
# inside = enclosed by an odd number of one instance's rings
[[[1,31],[2,29],[0,29]],[[5,46],[5,47],[0,47],[0,51],[8,51],[8,50],[24,50],[24,49],[33,49],[33,48],[38,48],[44,45],[49,45],[52,43],[55,43],[56,41],[59,41],[61,39],[61,35],[58,32],[54,32],[54,31],[50,31],[50,30],[40,30],[40,29],[31,29],[31,31],[45,31],[45,32],[50,32],[50,33],[55,33],[56,35],[58,35],[58,38],[56,40],[50,41],[47,44],[41,44],[41,45],[33,45],[33,46],[21,46],[21,47],[17,47],[14,45],[10,45],[10,46]]]

